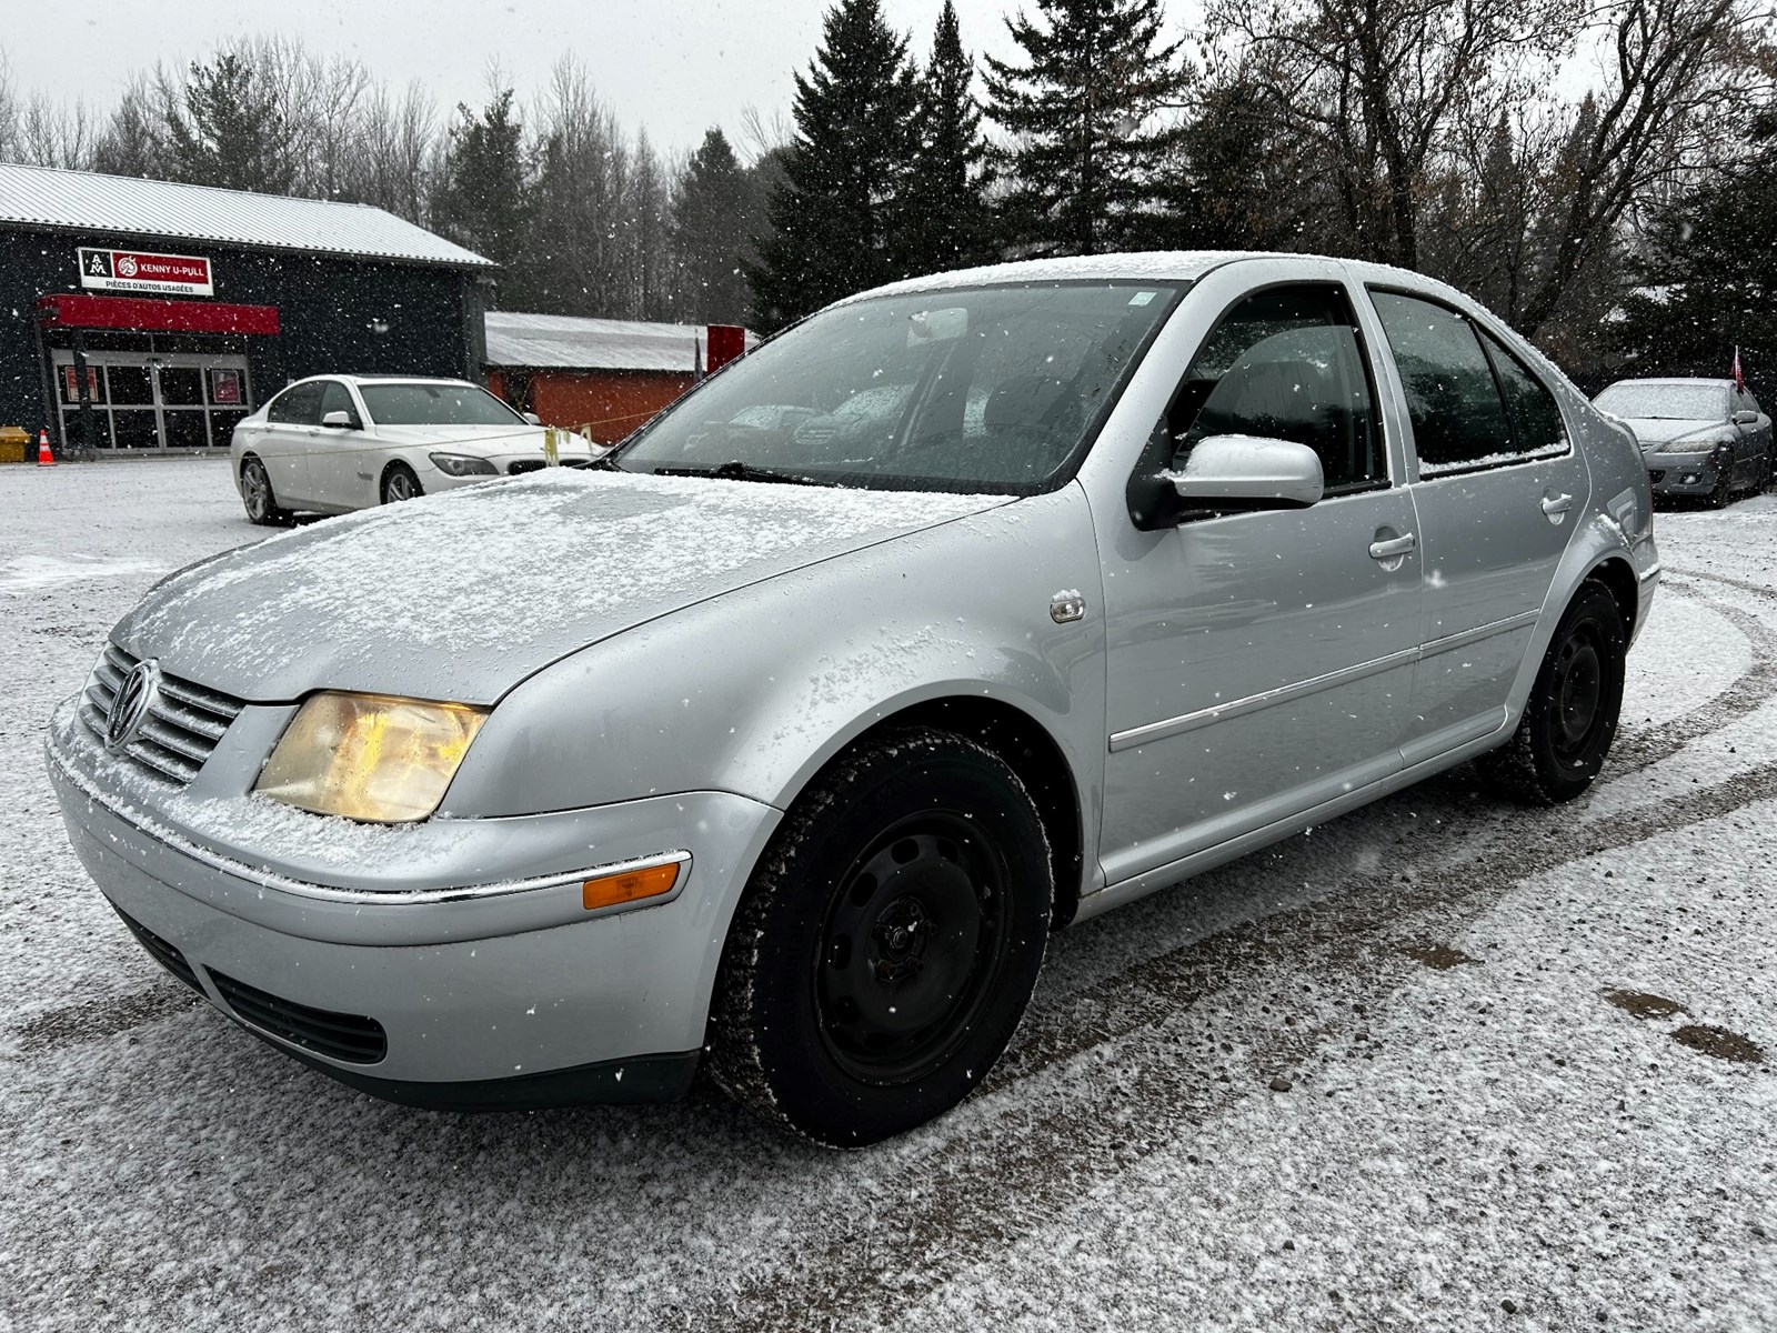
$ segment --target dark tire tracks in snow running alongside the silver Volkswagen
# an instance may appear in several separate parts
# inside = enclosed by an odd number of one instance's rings
[[[1747,633],[1752,668],[1693,713],[1624,736],[1626,762],[1612,762],[1610,782],[1633,778],[1777,695],[1777,635],[1708,601]],[[1189,1141],[1242,1097],[1269,1095],[1272,1075],[1303,1088],[1308,1058],[1345,1027],[1368,1026],[1414,972],[1402,946],[1452,938],[1539,874],[1763,800],[1777,800],[1777,762],[1601,819],[1585,819],[1583,810],[1574,819],[1571,805],[1525,810],[1510,837],[1478,857],[1425,869],[1409,858],[1390,874],[1347,878],[1322,899],[1192,940],[1036,1006],[976,1097],[942,1121],[945,1139],[899,1153],[883,1173],[887,1187],[851,1201],[855,1212],[839,1219],[825,1248],[791,1255],[769,1280],[743,1287],[732,1317],[718,1326],[764,1333],[896,1319],[1148,1153]],[[1487,830],[1489,821],[1475,826]],[[1313,855],[1295,850],[1297,860]],[[1263,1024],[1249,1017],[1242,1027],[1207,1011],[1217,995],[1230,1011],[1269,1017]],[[908,1223],[883,1233],[865,1225],[876,1212]]]

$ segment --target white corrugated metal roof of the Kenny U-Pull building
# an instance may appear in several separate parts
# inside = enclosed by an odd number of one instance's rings
[[[492,267],[474,251],[368,204],[286,199],[16,162],[0,164],[4,222],[464,268]]]

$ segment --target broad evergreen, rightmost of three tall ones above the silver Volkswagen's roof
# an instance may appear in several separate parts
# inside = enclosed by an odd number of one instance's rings
[[[1029,64],[988,57],[988,116],[1016,140],[1006,224],[1034,254],[1127,247],[1157,217],[1176,128],[1144,130],[1183,91],[1180,43],[1160,43],[1160,0],[1038,0],[1043,25],[1008,20]]]

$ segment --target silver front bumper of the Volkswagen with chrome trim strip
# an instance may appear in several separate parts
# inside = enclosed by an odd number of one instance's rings
[[[423,1106],[682,1091],[734,903],[778,819],[768,805],[707,791],[435,819],[394,830],[409,839],[398,866],[352,850],[354,835],[391,830],[316,819],[338,839],[336,864],[297,880],[281,862],[217,846],[181,821],[171,787],[158,805],[149,787],[146,796],[117,787],[103,750],[84,736],[64,709],[48,743],[75,851],[139,938],[147,931],[171,946],[188,976],[144,940],[149,953],[256,1036],[366,1091]],[[672,850],[689,862],[670,898],[583,910],[579,883],[590,873]],[[538,874],[538,857],[562,864]],[[450,866],[455,885],[437,882]],[[302,1034],[325,1036],[348,1018],[380,1029],[380,1054],[339,1058]]]

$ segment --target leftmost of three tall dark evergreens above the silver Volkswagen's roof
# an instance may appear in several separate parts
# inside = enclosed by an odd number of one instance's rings
[[[748,268],[757,320],[777,329],[901,275],[899,199],[917,91],[881,0],[839,0],[796,76],[796,135],[773,190],[771,235]]]

